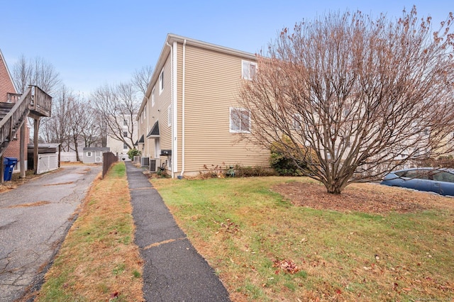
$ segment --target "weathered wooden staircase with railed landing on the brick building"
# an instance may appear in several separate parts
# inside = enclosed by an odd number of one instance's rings
[[[27,116],[35,120],[43,116],[49,117],[52,107],[52,97],[38,86],[28,86],[22,95],[8,94],[8,100],[11,103],[0,103],[0,157],[21,129]]]

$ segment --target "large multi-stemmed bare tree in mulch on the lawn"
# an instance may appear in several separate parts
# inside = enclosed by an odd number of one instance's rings
[[[329,13],[282,30],[241,89],[244,138],[277,147],[333,194],[452,150],[453,13],[433,33],[416,15]]]

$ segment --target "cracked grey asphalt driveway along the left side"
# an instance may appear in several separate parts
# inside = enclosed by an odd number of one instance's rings
[[[0,194],[0,302],[38,289],[101,166],[64,166]]]

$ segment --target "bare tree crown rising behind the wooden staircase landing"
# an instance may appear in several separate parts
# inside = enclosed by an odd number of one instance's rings
[[[12,77],[20,94],[26,91],[28,85],[36,85],[52,95],[61,84],[60,74],[42,57],[27,60],[21,55],[13,65]]]

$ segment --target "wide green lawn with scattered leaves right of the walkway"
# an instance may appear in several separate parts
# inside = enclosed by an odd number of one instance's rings
[[[152,182],[233,301],[454,298],[454,198],[430,211],[341,213],[293,206],[270,189],[286,181],[307,180]]]

